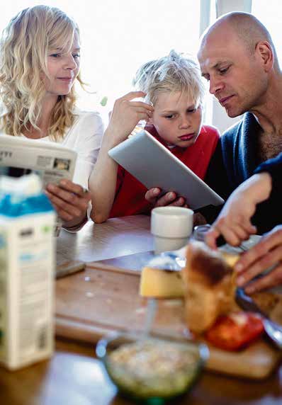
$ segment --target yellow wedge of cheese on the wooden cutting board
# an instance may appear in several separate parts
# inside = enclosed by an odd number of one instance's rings
[[[181,271],[142,268],[140,295],[142,297],[174,298],[184,296]]]

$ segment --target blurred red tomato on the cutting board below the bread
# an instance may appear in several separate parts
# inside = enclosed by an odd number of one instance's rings
[[[235,312],[219,316],[205,333],[205,338],[218,348],[240,350],[261,336],[264,324],[259,315]]]

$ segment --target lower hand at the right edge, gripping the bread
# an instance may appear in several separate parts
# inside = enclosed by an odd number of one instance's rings
[[[249,283],[256,275],[272,266],[275,266],[273,270],[245,288],[248,294],[282,283],[282,225],[262,236],[259,243],[237,261],[237,284],[242,286]]]

